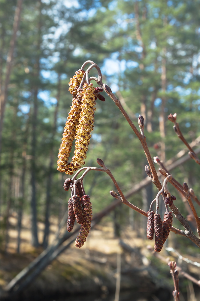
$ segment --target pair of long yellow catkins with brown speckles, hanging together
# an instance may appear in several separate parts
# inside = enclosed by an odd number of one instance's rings
[[[57,170],[68,175],[72,175],[85,164],[84,159],[93,130],[95,100],[99,98],[105,101],[105,98],[99,94],[103,91],[101,87],[94,88],[92,83],[84,83],[83,88],[79,88],[84,73],[84,70],[78,70],[69,82],[69,92],[73,95],[73,100],[62,134],[57,161]],[[76,139],[74,156],[68,163],[74,139]]]

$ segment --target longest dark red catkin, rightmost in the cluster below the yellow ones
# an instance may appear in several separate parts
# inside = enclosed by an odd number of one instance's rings
[[[75,246],[77,248],[82,247],[86,241],[92,221],[92,204],[90,202],[89,195],[83,195],[83,197],[81,197],[81,201],[83,204],[83,221],[80,227],[79,235],[75,241]]]

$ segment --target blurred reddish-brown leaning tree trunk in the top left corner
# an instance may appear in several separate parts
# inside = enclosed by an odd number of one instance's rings
[[[11,75],[11,71],[12,71],[12,67],[13,67],[13,53],[14,53],[14,48],[15,48],[16,39],[17,39],[17,30],[18,30],[19,24],[20,24],[21,11],[22,11],[22,0],[19,0],[19,1],[17,1],[17,7],[15,10],[14,23],[13,23],[13,36],[10,41],[10,48],[8,50],[8,56],[7,56],[7,61],[6,61],[5,82],[4,82],[4,87],[1,91],[1,133],[2,133],[2,129],[3,129],[5,104],[7,101],[8,85],[10,82],[10,75]]]

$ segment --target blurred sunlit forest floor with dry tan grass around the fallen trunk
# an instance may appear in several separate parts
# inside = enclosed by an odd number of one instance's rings
[[[31,222],[29,216],[22,221],[20,254],[17,254],[17,216],[10,218],[8,253],[1,253],[1,288],[5,286],[23,268],[32,262],[42,251],[31,246]],[[51,219],[50,243],[58,227],[58,220]],[[44,224],[38,222],[38,238],[42,241]],[[114,237],[111,222],[96,225],[91,230],[83,247],[74,244],[57,259],[13,300],[115,300],[116,282],[120,281],[120,300],[173,300],[173,282],[166,262],[166,251],[160,258],[153,255],[150,248],[153,241],[138,237],[131,227],[121,230],[121,239]],[[163,259],[163,260],[162,260]],[[171,257],[170,260],[176,260]],[[192,260],[198,261],[197,258]],[[184,265],[184,264],[183,264]],[[198,267],[187,267],[187,272],[196,276]],[[182,278],[184,285],[185,279]],[[198,288],[197,288],[198,289]],[[193,293],[195,286],[188,285]],[[134,297],[133,297],[134,295]],[[11,299],[9,299],[11,300]]]

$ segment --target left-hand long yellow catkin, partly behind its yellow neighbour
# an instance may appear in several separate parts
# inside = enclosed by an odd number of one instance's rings
[[[60,172],[66,172],[72,143],[76,135],[76,126],[81,112],[81,95],[78,93],[78,89],[84,73],[84,70],[78,70],[69,82],[69,92],[73,95],[73,100],[64,127],[64,133],[62,134],[62,143],[59,148],[57,170]],[[73,174],[73,172],[68,171],[68,174]]]

